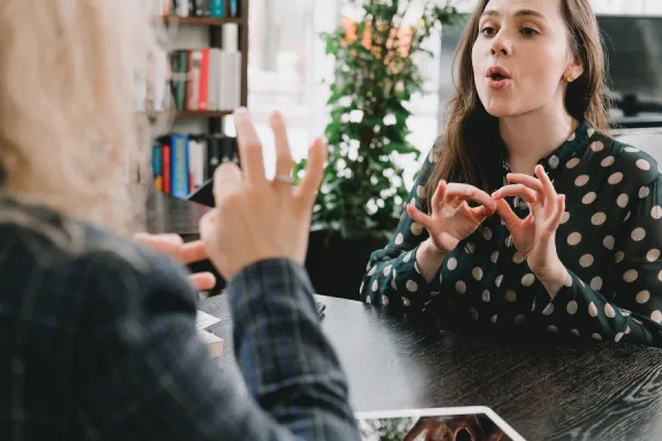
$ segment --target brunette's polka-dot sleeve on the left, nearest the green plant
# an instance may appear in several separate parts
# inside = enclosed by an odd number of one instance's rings
[[[433,171],[434,154],[434,151],[430,152],[424,160],[409,192],[409,203],[419,209],[424,206],[424,187]],[[427,238],[427,230],[403,211],[386,248],[374,251],[370,257],[360,289],[361,300],[393,310],[420,311],[430,300],[430,293],[440,289],[438,275],[428,283],[416,266],[416,250]]]

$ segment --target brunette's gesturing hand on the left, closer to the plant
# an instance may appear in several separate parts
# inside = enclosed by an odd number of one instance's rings
[[[472,208],[468,201],[477,202],[480,206]],[[460,240],[476,232],[496,209],[496,203],[482,190],[446,181],[439,182],[430,205],[430,215],[410,204],[406,209],[409,217],[428,232],[433,244],[441,254],[453,250]]]

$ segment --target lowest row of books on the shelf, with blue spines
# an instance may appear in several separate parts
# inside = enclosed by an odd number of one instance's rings
[[[185,198],[213,178],[224,162],[239,165],[235,137],[223,133],[169,133],[152,147],[154,189]]]

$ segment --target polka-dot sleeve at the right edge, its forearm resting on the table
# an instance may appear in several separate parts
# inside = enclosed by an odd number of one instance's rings
[[[575,334],[662,346],[662,178],[638,189],[596,290],[570,272],[552,301]]]

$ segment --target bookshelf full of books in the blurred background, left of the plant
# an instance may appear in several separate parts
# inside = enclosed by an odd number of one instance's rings
[[[175,41],[148,63],[163,80],[142,92],[148,117],[173,122],[152,144],[157,191],[186,198],[221,163],[238,163],[236,138],[224,133],[224,118],[248,105],[248,3],[159,0],[153,20],[174,31]],[[215,9],[220,4],[224,12]]]

